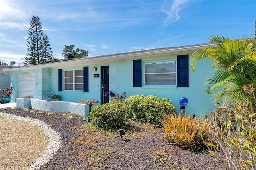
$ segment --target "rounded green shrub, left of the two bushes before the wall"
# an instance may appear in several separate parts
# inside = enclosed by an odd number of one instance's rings
[[[95,106],[90,112],[89,119],[95,127],[113,131],[124,128],[128,120],[127,115],[126,104],[111,102]]]

